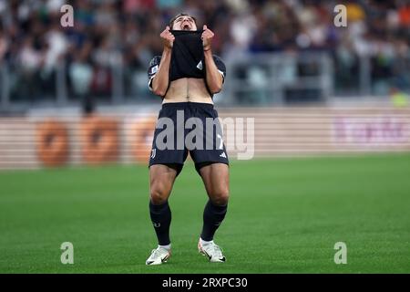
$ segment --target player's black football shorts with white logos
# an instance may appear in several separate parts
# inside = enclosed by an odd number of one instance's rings
[[[188,153],[198,172],[215,162],[229,165],[218,112],[209,103],[165,103],[159,110],[149,166],[169,165],[179,174]]]

